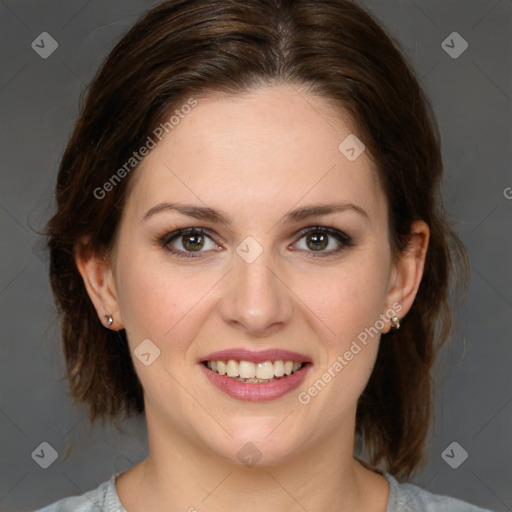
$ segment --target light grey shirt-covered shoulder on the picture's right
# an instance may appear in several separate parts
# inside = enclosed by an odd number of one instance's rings
[[[414,484],[399,483],[389,473],[389,503],[386,512],[492,512],[465,501],[432,494]]]

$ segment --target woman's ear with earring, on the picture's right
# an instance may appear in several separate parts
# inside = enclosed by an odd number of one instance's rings
[[[411,237],[407,247],[397,255],[390,279],[390,289],[386,297],[387,311],[394,311],[394,316],[402,319],[411,309],[423,277],[427,255],[430,229],[428,225],[417,220],[411,224]],[[382,330],[391,330],[390,317]]]

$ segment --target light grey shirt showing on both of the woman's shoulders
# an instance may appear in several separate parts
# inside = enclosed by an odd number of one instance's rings
[[[389,482],[386,512],[492,512],[449,496],[432,494],[414,484],[399,483],[389,473],[382,473]],[[127,512],[116,492],[118,475],[82,496],[64,498],[36,512]]]

